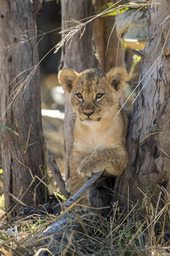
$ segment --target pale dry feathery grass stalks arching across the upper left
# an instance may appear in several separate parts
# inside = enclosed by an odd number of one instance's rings
[[[121,11],[122,9],[128,8],[128,7],[138,7],[139,9],[142,9],[144,7],[150,6],[151,4],[152,5],[153,4],[159,5],[159,2],[157,2],[157,3],[153,3],[152,2],[151,3],[151,2],[147,2],[147,1],[142,1],[142,2],[134,1],[134,2],[128,2],[128,3],[125,3],[125,4],[121,4],[121,0],[119,0],[112,7],[108,7],[104,11],[101,11],[100,13],[98,13],[96,15],[93,15],[91,17],[87,17],[86,19],[83,19],[83,20],[68,20],[67,22],[68,22],[68,24],[70,24],[70,27],[62,30],[62,32],[61,32],[62,33],[62,40],[59,41],[56,46],[53,46],[45,54],[45,56],[42,59],[40,59],[40,61],[38,61],[38,63],[36,63],[33,67],[29,67],[28,69],[23,70],[22,72],[20,72],[18,74],[18,76],[15,77],[14,80],[11,81],[11,84],[15,84],[15,81],[19,80],[18,83],[13,85],[13,89],[12,89],[11,95],[10,95],[10,97],[8,99],[9,103],[6,106],[6,109],[4,109],[3,115],[1,116],[1,118],[6,114],[6,111],[9,111],[12,106],[15,106],[15,104],[17,104],[19,98],[23,96],[23,93],[25,92],[25,90],[27,89],[28,85],[30,84],[30,81],[32,80],[32,77],[35,76],[36,70],[39,67],[40,63],[46,58],[46,56],[50,52],[54,51],[54,53],[57,53],[58,50],[62,49],[62,46],[64,46],[66,43],[70,43],[70,41],[74,37],[74,34],[76,34],[76,33],[80,34],[80,38],[83,37],[83,33],[86,30],[87,24],[93,22],[94,20],[100,18],[103,15],[107,15],[108,13],[113,12],[113,11],[117,11],[117,13],[119,13],[119,11]],[[165,20],[166,19],[167,19],[167,17],[165,17]],[[114,24],[114,26],[115,26],[115,24]],[[55,31],[57,29],[59,29],[59,28],[53,29],[50,32],[53,32],[53,31]],[[41,33],[37,37],[38,42],[37,42],[35,48],[38,46],[38,43],[41,40],[41,37],[45,37],[46,34],[47,33]],[[40,37],[40,39],[39,39],[39,37]],[[36,38],[36,36],[28,38],[28,40],[29,41],[30,40],[35,40],[35,38]],[[27,43],[28,40],[24,39],[24,41],[21,41],[21,42],[15,44],[13,46],[7,46],[3,50],[4,51],[6,51],[6,50],[7,51],[14,50],[15,47],[19,47],[22,44]],[[117,54],[117,58],[118,58],[118,54]],[[153,64],[153,66],[155,66],[155,63]],[[138,88],[138,86],[137,86],[137,88]],[[134,92],[136,91],[137,88],[134,89]],[[131,95],[130,95],[130,97],[131,97]],[[129,100],[129,98],[127,100]]]

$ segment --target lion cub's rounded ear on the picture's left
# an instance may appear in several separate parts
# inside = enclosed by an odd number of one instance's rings
[[[79,74],[74,72],[72,69],[62,69],[58,73],[58,80],[59,83],[62,85],[62,88],[67,92],[70,93],[71,89],[73,88],[74,80],[78,78]]]

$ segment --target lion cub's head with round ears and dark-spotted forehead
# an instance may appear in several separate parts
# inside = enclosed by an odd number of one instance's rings
[[[99,122],[103,117],[117,115],[122,92],[127,86],[125,68],[114,67],[107,74],[95,68],[81,73],[63,69],[58,78],[70,94],[71,106],[83,123]]]

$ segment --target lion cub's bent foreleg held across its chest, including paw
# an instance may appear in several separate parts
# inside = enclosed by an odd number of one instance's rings
[[[128,155],[125,148],[100,148],[83,158],[79,164],[78,172],[88,177],[99,171],[106,171],[118,176],[125,169],[127,163]]]

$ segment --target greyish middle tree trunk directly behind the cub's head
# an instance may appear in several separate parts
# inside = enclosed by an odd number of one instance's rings
[[[75,25],[71,20],[83,20],[93,15],[91,0],[62,0],[62,30]],[[83,22],[83,21],[82,21]],[[81,31],[76,33],[71,41],[62,48],[62,68],[72,68],[76,72],[97,67],[96,50],[92,41],[92,24],[88,24],[81,37]],[[66,180],[69,178],[69,156],[73,145],[73,129],[75,115],[66,95],[65,103],[65,152],[66,152]]]

